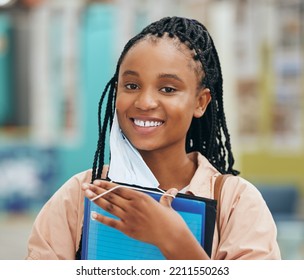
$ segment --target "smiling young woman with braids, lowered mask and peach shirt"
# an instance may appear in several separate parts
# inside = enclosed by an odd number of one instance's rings
[[[132,38],[101,97],[93,168],[72,177],[43,207],[27,258],[74,259],[80,251],[84,196],[92,199],[111,190],[114,183],[99,180],[110,178],[158,187],[167,195],[157,202],[142,192],[118,188],[94,200],[118,219],[92,213],[93,219],[154,244],[167,259],[209,259],[171,208],[168,195],[213,198],[218,175],[238,174],[222,84],[213,41],[196,20],[163,18]],[[104,165],[109,127],[110,169]],[[220,204],[212,259],[280,258],[274,221],[252,184],[229,177]]]

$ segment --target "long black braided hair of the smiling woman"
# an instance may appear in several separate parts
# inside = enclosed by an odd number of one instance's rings
[[[186,151],[199,151],[223,174],[237,175],[233,169],[230,135],[223,108],[223,78],[219,57],[213,40],[200,22],[182,17],[165,17],[153,22],[125,45],[112,79],[106,85],[98,105],[99,139],[93,162],[92,181],[101,177],[105,161],[105,144],[115,112],[116,84],[120,65],[126,53],[138,42],[164,35],[178,38],[193,53],[193,59],[201,64],[204,75],[201,85],[210,89],[211,102],[201,118],[193,118],[186,136]],[[104,112],[104,114],[102,114]],[[102,121],[102,115],[104,115]]]

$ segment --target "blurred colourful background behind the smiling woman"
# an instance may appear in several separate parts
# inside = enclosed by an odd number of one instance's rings
[[[0,259],[23,259],[42,205],[91,168],[124,44],[168,15],[212,34],[236,168],[261,190],[283,259],[304,259],[304,0],[0,0]]]

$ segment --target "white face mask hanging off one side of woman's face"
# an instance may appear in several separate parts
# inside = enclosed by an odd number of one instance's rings
[[[112,181],[158,188],[157,179],[136,148],[123,135],[116,112],[110,133],[110,152],[111,161],[108,176]]]

